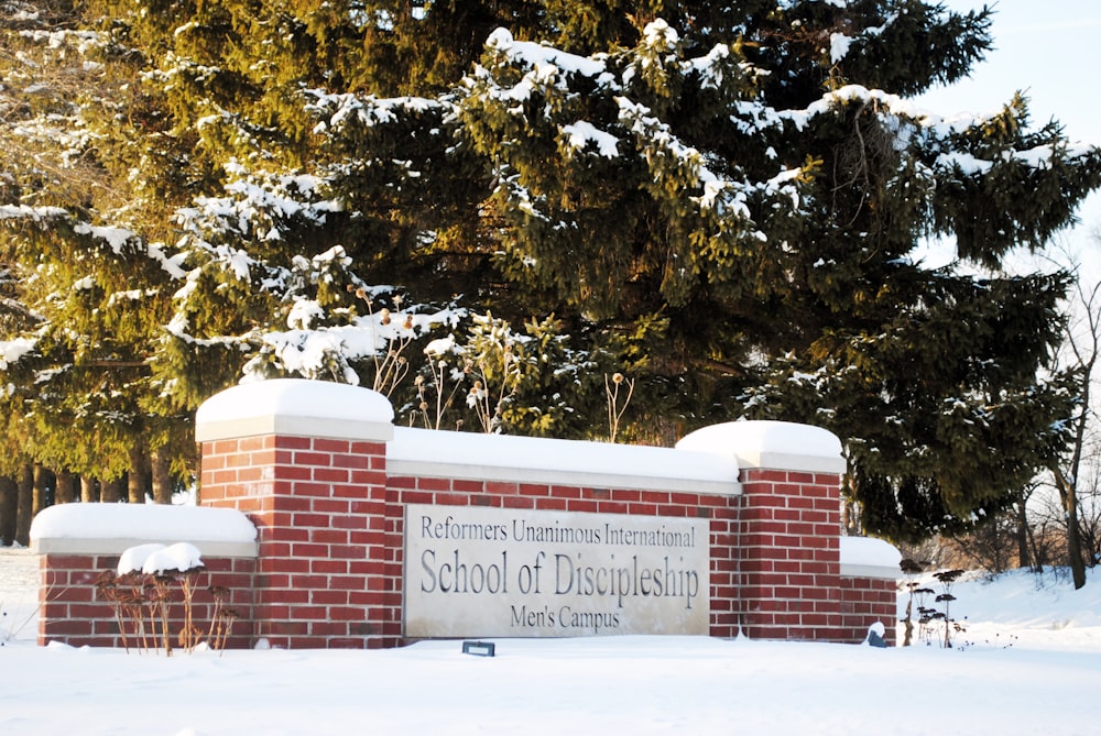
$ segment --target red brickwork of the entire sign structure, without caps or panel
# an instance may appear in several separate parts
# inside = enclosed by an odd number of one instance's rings
[[[861,641],[881,620],[893,637],[894,582],[840,575],[836,473],[745,469],[743,495],[727,496],[388,477],[377,441],[250,437],[204,442],[203,453],[203,504],[241,510],[259,531],[258,560],[207,560],[242,609],[231,646],[401,644],[407,504],[707,518],[712,636]],[[118,644],[111,608],[95,593],[117,562],[44,557],[43,642]],[[196,603],[208,616],[205,590]]]

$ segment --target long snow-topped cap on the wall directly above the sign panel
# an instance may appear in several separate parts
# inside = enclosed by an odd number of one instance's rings
[[[597,488],[741,493],[731,457],[672,448],[396,427],[391,476],[416,475]]]

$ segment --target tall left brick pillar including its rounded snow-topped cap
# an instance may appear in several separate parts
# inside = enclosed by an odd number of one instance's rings
[[[302,380],[236,386],[199,407],[200,503],[244,512],[259,530],[257,637],[287,648],[399,642],[392,420],[375,392]]]

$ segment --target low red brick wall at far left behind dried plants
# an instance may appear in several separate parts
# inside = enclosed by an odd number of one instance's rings
[[[252,645],[252,586],[255,560],[248,558],[207,558],[207,571],[198,578],[193,597],[193,625],[206,638],[210,629],[214,597],[212,585],[228,589],[230,597],[225,607],[235,609],[239,618],[232,623],[227,647]],[[96,581],[105,571],[115,571],[118,554],[43,554],[40,558],[42,586],[39,592],[39,644],[62,641],[74,647],[121,647],[115,608],[102,598]],[[173,604],[170,607],[172,644],[183,629],[184,606],[177,585],[172,586]],[[127,622],[129,624],[129,620]],[[137,641],[130,636],[133,648]],[[159,639],[160,640],[160,639]]]

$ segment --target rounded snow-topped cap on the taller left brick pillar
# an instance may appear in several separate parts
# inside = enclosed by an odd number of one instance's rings
[[[195,415],[198,442],[263,435],[385,442],[394,409],[370,388],[275,378],[240,384],[208,398]]]

